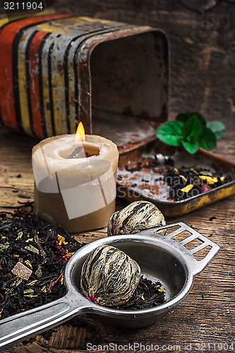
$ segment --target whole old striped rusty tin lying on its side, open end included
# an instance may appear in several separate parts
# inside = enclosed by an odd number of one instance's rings
[[[68,14],[1,19],[0,52],[0,120],[7,128],[46,138],[75,133],[83,121],[86,133],[128,150],[168,118],[162,30]]]

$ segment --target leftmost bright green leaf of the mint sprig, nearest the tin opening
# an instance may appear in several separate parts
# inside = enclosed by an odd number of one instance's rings
[[[183,123],[181,121],[167,121],[159,126],[156,136],[164,143],[172,146],[180,146]]]

